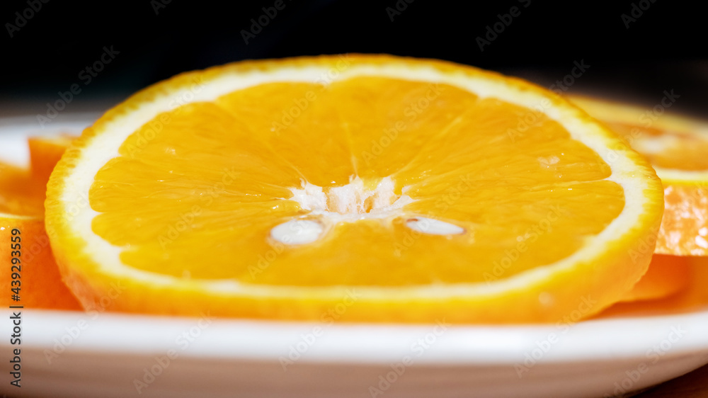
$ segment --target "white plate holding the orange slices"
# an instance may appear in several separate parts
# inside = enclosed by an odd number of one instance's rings
[[[0,157],[26,161],[24,137],[37,132],[33,118],[4,120]],[[0,393],[19,397],[610,397],[708,363],[708,309],[547,326],[21,311],[21,345],[8,339],[11,311],[0,339]],[[6,370],[18,347],[21,388]]]

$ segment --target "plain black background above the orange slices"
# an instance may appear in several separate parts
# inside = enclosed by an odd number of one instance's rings
[[[40,0],[29,0],[35,3]],[[168,1],[168,0],[164,0]],[[543,2],[433,0],[283,0],[285,8],[246,44],[243,30],[275,0],[232,4],[144,0],[123,3],[28,0],[0,7],[0,116],[43,113],[103,47],[120,52],[83,86],[67,111],[105,108],[173,74],[239,59],[385,52],[432,57],[523,76],[550,86],[581,60],[590,68],[570,87],[653,105],[664,90],[674,110],[705,115],[708,57],[705,13],[687,2],[655,0]],[[409,0],[411,1],[411,0]],[[527,7],[524,7],[527,4]],[[387,8],[401,10],[389,15]],[[405,9],[403,9],[405,6]],[[481,51],[499,14],[520,15]],[[638,15],[629,28],[622,14]],[[11,38],[16,13],[33,14]],[[93,106],[93,108],[92,108]]]

